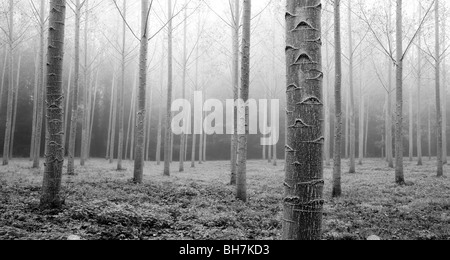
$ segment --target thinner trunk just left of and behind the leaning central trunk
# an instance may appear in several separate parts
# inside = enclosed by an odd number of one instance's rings
[[[239,99],[239,28],[240,28],[240,0],[234,0],[234,12],[233,12],[233,28],[232,28],[232,49],[233,49],[233,99],[236,101]],[[237,174],[237,154],[238,154],[238,129],[237,129],[237,107],[234,106],[234,133],[231,138],[231,180],[230,185],[236,185]]]

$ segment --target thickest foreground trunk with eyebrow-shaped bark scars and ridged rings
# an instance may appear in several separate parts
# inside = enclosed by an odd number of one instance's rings
[[[287,1],[285,240],[319,240],[322,233],[324,137],[321,119],[324,111],[321,15],[320,0]]]

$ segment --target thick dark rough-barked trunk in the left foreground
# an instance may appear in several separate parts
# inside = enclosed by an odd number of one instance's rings
[[[60,208],[62,167],[64,164],[62,70],[64,56],[65,0],[50,1],[47,75],[47,154],[42,185],[41,208]]]

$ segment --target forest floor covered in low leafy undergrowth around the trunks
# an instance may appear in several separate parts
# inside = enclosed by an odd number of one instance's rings
[[[323,238],[450,239],[450,178],[435,177],[433,161],[405,164],[408,184],[397,186],[384,161],[366,161],[356,174],[343,174],[338,200],[331,199],[327,167]],[[147,163],[145,183],[136,186],[131,162],[117,172],[115,164],[92,160],[77,176],[64,176],[64,208],[42,212],[42,172],[14,160],[0,167],[0,240],[281,238],[283,165],[249,162],[248,203],[227,185],[228,162],[189,166],[179,173],[174,163],[172,177],[163,177],[162,167]]]

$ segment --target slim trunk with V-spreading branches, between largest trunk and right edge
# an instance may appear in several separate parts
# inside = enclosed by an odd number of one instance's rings
[[[405,184],[403,175],[403,0],[397,0],[397,63],[396,63],[396,122],[395,122],[395,180],[399,185]]]

